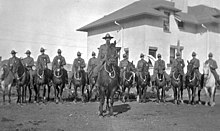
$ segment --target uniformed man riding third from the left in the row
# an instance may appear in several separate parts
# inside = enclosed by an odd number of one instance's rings
[[[47,54],[44,53],[45,52],[44,48],[41,47],[40,52],[41,52],[41,55],[39,55],[37,58],[36,66],[38,69],[48,68],[47,64],[50,63],[50,58]]]

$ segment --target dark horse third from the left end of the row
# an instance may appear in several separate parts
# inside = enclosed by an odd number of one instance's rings
[[[46,86],[47,86],[47,101],[50,100],[50,87],[52,86],[53,71],[47,68],[46,60],[45,63],[41,63],[36,69],[36,76],[34,77],[34,83],[36,88],[35,101],[40,102],[40,89],[43,87],[43,102],[46,102]]]

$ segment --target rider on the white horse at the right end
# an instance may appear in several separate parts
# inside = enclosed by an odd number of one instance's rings
[[[219,75],[216,72],[216,69],[218,68],[217,62],[212,58],[213,54],[211,52],[209,53],[208,57],[209,57],[209,59],[205,61],[205,64],[209,63],[209,67],[215,77],[216,83],[218,83],[218,85],[220,85]]]

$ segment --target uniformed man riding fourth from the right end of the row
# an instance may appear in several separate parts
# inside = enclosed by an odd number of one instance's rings
[[[155,64],[154,64],[154,73],[153,73],[153,76],[152,76],[152,85],[155,85],[157,74],[159,73],[159,71],[162,71],[162,74],[164,75],[165,80],[167,82],[167,86],[170,86],[170,77],[165,71],[165,68],[166,68],[165,67],[165,62],[164,62],[164,60],[161,59],[161,54],[158,54],[157,58],[158,58],[158,60],[155,61]]]

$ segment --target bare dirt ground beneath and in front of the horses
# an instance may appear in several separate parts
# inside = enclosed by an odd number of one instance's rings
[[[15,92],[15,91],[14,91]],[[171,91],[172,92],[172,91]],[[167,92],[170,94],[171,92]],[[114,118],[97,115],[98,102],[55,104],[28,103],[0,105],[0,131],[217,131],[220,130],[220,95],[216,105],[174,105],[172,97],[164,103],[136,101],[114,104]],[[67,91],[64,95],[67,97]],[[52,96],[53,97],[53,96]],[[204,93],[202,100],[204,100]],[[153,99],[151,99],[153,100]],[[0,93],[2,103],[2,93]]]

